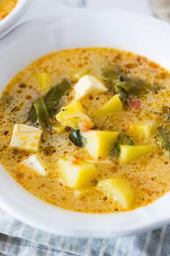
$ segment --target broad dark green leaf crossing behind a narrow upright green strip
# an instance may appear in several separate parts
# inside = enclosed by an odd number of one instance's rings
[[[48,90],[42,97],[50,118],[58,112],[60,108],[58,103],[61,100],[61,97],[70,89],[71,83],[68,82],[68,80],[63,80],[60,84],[50,88],[50,90]],[[37,114],[34,106],[30,109],[27,121],[31,121],[33,124],[37,121]]]

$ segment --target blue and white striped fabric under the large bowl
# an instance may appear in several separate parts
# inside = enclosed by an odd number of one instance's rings
[[[0,256],[169,256],[170,226],[118,239],[55,236],[0,210]]]

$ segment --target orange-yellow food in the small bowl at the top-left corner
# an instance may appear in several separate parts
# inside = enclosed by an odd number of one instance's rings
[[[0,0],[0,21],[12,12],[17,2],[18,0]]]

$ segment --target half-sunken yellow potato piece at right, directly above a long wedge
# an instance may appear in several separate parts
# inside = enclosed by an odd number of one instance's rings
[[[151,121],[145,121],[138,124],[132,124],[129,131],[138,137],[150,137],[153,123]]]

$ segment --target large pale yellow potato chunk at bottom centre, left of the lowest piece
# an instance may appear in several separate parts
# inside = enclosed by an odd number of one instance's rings
[[[87,187],[92,179],[97,178],[97,168],[93,163],[86,161],[58,160],[58,174],[67,187],[81,189]]]

